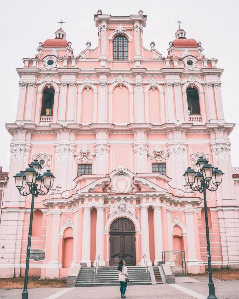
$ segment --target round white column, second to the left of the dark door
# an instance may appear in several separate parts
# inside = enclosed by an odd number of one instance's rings
[[[91,267],[91,207],[83,207],[82,260],[81,264]]]

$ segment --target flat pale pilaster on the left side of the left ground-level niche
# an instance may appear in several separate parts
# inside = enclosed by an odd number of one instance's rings
[[[46,277],[59,277],[59,229],[61,212],[52,213],[50,261],[46,267]]]

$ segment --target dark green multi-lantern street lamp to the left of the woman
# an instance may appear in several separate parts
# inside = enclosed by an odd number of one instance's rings
[[[40,175],[41,169],[42,169],[41,164],[39,164],[37,160],[34,160],[29,164],[29,168],[27,168],[25,171],[20,171],[20,173],[17,173],[16,176],[14,176],[16,181],[16,187],[19,193],[23,196],[27,196],[29,194],[32,195],[30,224],[29,224],[29,233],[28,233],[28,241],[27,241],[26,270],[25,270],[25,278],[24,278],[24,289],[22,291],[22,299],[28,298],[27,282],[28,282],[30,248],[31,248],[31,237],[32,237],[34,199],[38,195],[46,195],[49,192],[49,190],[53,187],[53,181],[55,179],[55,177],[50,172],[50,170],[47,170],[41,176]],[[28,192],[23,191],[25,189],[26,184],[28,186]],[[44,186],[46,191],[42,190]]]

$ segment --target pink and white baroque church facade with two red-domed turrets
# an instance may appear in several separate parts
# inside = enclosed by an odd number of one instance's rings
[[[238,182],[232,179],[216,59],[177,30],[168,56],[143,46],[146,16],[94,15],[99,45],[73,55],[62,29],[24,58],[9,182],[1,217],[0,277],[24,275],[30,197],[13,175],[38,159],[56,179],[35,200],[30,275],[67,277],[78,265],[162,262],[184,250],[188,273],[207,265],[202,197],[183,173],[199,156],[225,174],[207,192],[214,268],[239,267]],[[173,261],[172,261],[173,263]]]

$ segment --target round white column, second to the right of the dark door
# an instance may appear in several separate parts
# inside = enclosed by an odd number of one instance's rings
[[[163,251],[163,233],[162,233],[162,219],[161,207],[153,206],[154,209],[154,265],[157,266],[158,262],[162,262]]]

